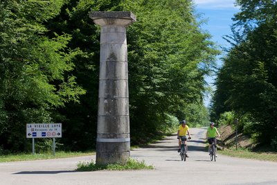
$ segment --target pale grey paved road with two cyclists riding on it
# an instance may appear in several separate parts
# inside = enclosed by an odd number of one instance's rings
[[[236,159],[219,155],[210,161],[204,148],[204,129],[190,129],[189,158],[181,161],[177,136],[169,136],[147,148],[134,149],[134,159],[144,160],[154,170],[76,172],[80,161],[91,157],[0,163],[0,184],[213,184],[275,185],[277,163]]]

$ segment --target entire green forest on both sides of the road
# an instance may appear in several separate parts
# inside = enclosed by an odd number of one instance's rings
[[[131,11],[127,27],[132,145],[190,127],[233,124],[277,149],[277,3],[237,0],[231,48],[201,26],[192,0],[10,0],[0,2],[0,155],[30,152],[27,123],[62,123],[58,150],[96,147],[100,28],[91,11]],[[211,107],[204,106],[216,73]],[[37,139],[39,151],[51,139]]]

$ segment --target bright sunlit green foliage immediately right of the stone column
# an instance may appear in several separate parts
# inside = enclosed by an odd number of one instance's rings
[[[165,114],[179,120],[193,117],[186,107],[202,104],[204,74],[211,70],[217,51],[199,30],[190,2],[125,5],[137,17],[128,27],[131,132],[157,134]]]

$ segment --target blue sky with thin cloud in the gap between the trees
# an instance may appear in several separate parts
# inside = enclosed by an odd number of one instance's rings
[[[232,17],[239,12],[239,8],[234,4],[235,0],[194,0],[194,2],[197,14],[201,14],[202,19],[207,19],[207,23],[202,25],[202,29],[212,35],[211,40],[217,45],[228,48],[230,45],[223,39],[223,36],[231,35]],[[222,65],[221,57],[222,55],[217,57],[217,66],[219,67]],[[215,77],[206,78],[212,87],[213,78]],[[210,102],[211,96],[208,96],[204,100],[204,105],[208,107]]]

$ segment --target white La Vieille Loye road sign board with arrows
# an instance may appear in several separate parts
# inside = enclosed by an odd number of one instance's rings
[[[62,137],[62,123],[27,123],[27,138]]]

